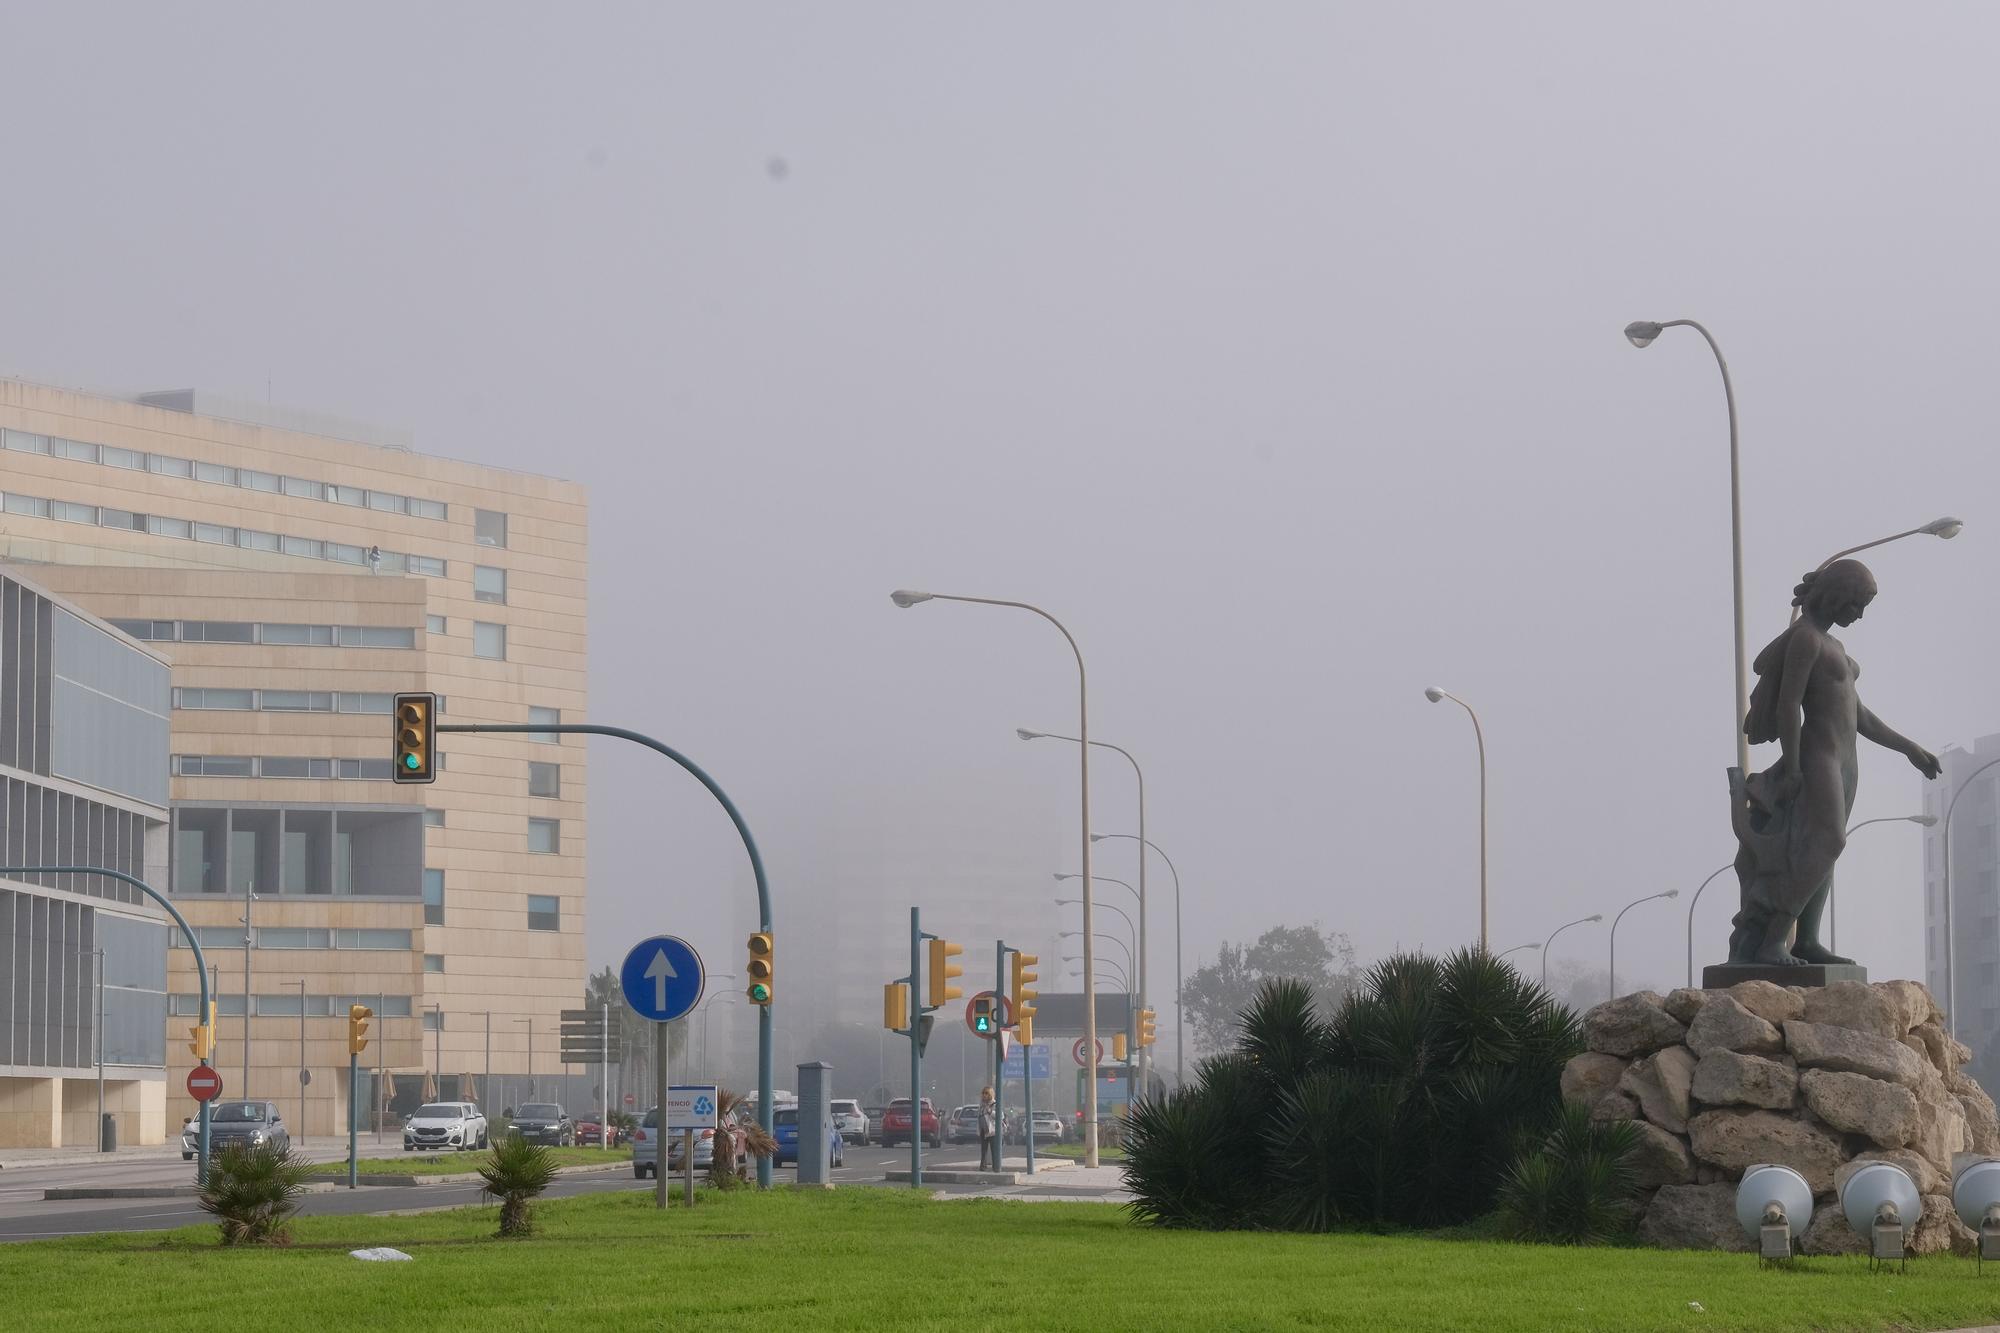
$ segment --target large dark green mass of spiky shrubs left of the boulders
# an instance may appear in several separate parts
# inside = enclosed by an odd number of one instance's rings
[[[1268,983],[1238,1047],[1134,1119],[1134,1211],[1180,1227],[1438,1227],[1556,1123],[1576,1017],[1480,951],[1398,955],[1322,1017]],[[1222,1127],[1222,1129],[1218,1129]]]

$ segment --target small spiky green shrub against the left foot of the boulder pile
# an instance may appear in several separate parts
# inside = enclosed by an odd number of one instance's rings
[[[1500,1185],[1500,1227],[1520,1241],[1602,1245],[1632,1229],[1638,1177],[1632,1121],[1592,1121],[1564,1107],[1548,1139],[1522,1153]]]

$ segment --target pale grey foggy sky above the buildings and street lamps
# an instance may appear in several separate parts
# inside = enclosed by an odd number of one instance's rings
[[[1494,949],[1680,889],[1620,933],[1620,977],[1678,985],[1686,895],[1734,855],[1726,424],[1692,330],[1620,328],[1700,318],[1730,356],[1750,650],[1802,570],[1954,512],[1958,540],[1876,552],[1846,642],[1892,727],[2000,729],[1996,28],[12,0],[0,372],[268,378],[586,482],[594,721],[728,787],[782,941],[832,789],[940,881],[968,855],[940,811],[1074,809],[1074,755],[1012,735],[1074,725],[1062,640],[890,606],[918,586],[1076,630],[1190,969],[1278,923],[1362,959],[1472,937],[1472,735],[1438,683],[1486,725]],[[1856,819],[1918,789],[1870,751]],[[1102,831],[1130,793],[1104,763]],[[698,787],[598,745],[590,819],[594,965],[660,929],[740,953]],[[1842,863],[1878,979],[1922,975],[1918,839]],[[1732,909],[1718,881],[1698,963]],[[1602,931],[1558,959],[1602,965]]]

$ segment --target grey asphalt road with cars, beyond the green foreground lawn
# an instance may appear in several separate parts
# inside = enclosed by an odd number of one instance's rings
[[[364,1149],[366,1151],[366,1149]],[[332,1149],[312,1149],[320,1161],[338,1157]],[[394,1149],[378,1149],[378,1157],[394,1157]],[[836,1185],[884,1185],[884,1171],[910,1165],[910,1149],[848,1145],[846,1165],[832,1173]],[[924,1165],[936,1169],[974,1169],[978,1147],[958,1145],[924,1151]],[[466,1163],[472,1169],[472,1163]],[[772,1179],[790,1183],[794,1167],[778,1167]],[[114,1155],[110,1161],[56,1165],[18,1165],[0,1171],[0,1241],[42,1241],[66,1235],[96,1235],[104,1231],[166,1231],[208,1221],[192,1197],[172,1199],[44,1199],[42,1191],[58,1187],[162,1187],[192,1185],[194,1165],[178,1153],[138,1151]],[[630,1171],[560,1177],[550,1187],[550,1199],[598,1195],[608,1191],[652,1191],[652,1181],[638,1181]],[[676,1181],[678,1187],[678,1181]],[[972,1193],[976,1185],[928,1185],[948,1193]],[[1046,1193],[1060,1193],[1060,1181],[1050,1179]],[[310,1193],[302,1199],[308,1217],[354,1213],[400,1213],[406,1209],[468,1207],[484,1203],[478,1181],[466,1185],[362,1185]]]

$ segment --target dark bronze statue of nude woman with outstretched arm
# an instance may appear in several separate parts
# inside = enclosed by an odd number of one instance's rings
[[[1854,689],[1860,669],[1832,634],[1836,624],[1860,620],[1874,594],[1874,574],[1860,560],[1806,574],[1792,598],[1804,614],[1756,654],[1744,733],[1752,745],[1776,741],[1784,757],[1748,781],[1730,769],[1742,885],[1730,963],[1852,963],[1820,943],[1820,915],[1848,841],[1856,739],[1908,757],[1926,779],[1938,777],[1936,755],[1862,705]]]

